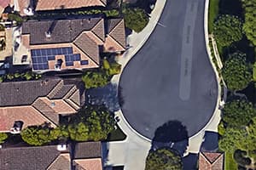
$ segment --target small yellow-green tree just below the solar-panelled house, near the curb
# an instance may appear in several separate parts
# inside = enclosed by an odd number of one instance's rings
[[[109,77],[104,71],[86,71],[82,80],[85,88],[100,88],[108,84]]]

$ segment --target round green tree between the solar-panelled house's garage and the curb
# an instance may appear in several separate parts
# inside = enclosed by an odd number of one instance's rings
[[[123,8],[125,26],[140,32],[148,25],[148,14],[142,8]]]

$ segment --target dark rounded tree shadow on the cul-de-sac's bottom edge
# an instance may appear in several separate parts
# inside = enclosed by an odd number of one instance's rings
[[[162,147],[170,147],[177,150],[181,156],[189,145],[189,134],[187,127],[179,121],[169,121],[158,127],[154,133],[151,149],[157,150]]]

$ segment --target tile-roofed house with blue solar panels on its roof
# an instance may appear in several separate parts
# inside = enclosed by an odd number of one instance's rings
[[[103,52],[125,51],[125,22],[102,17],[27,21],[21,43],[33,71],[97,68]]]

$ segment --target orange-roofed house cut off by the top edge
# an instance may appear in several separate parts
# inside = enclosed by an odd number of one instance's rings
[[[106,7],[107,0],[18,0],[21,15],[32,15],[38,11],[83,7]]]

